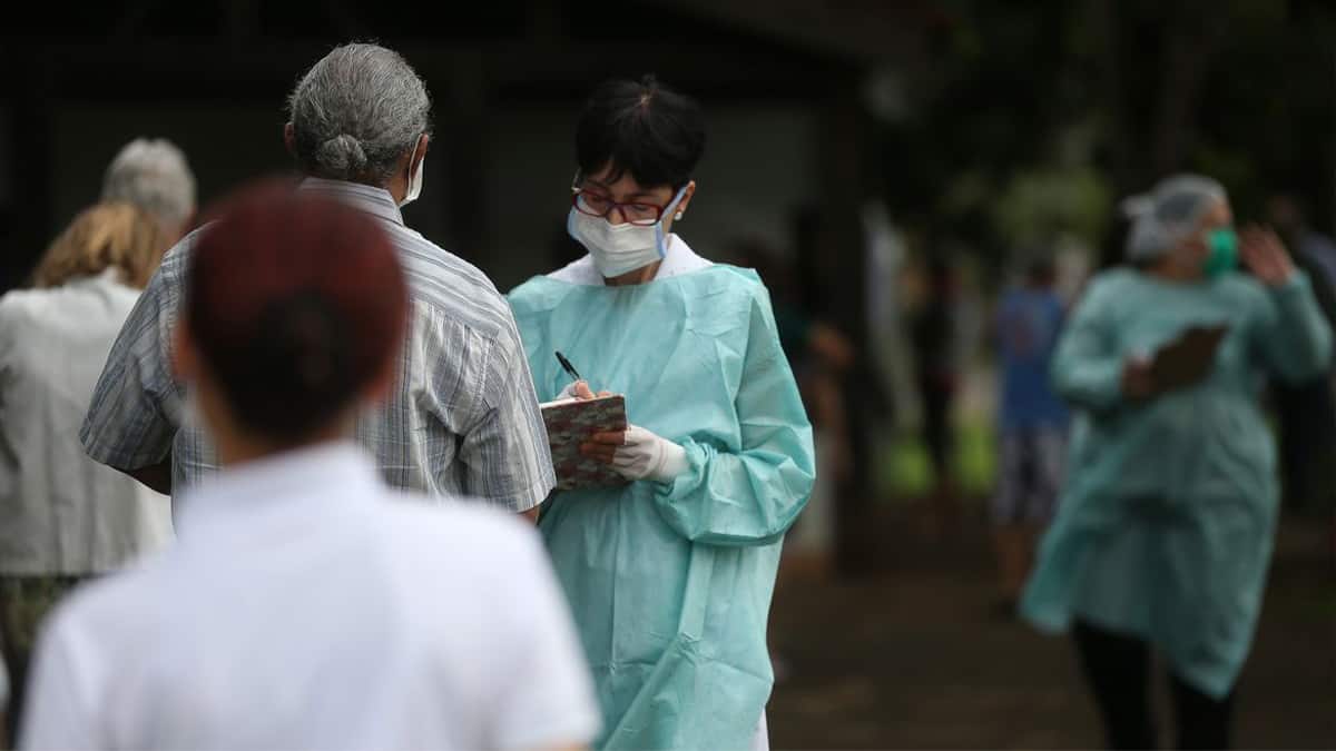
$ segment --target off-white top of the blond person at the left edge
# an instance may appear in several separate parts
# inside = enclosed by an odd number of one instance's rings
[[[167,498],[79,442],[138,297],[108,269],[0,298],[0,575],[100,573],[171,539]]]

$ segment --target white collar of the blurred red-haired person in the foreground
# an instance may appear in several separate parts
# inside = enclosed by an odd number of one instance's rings
[[[366,450],[337,441],[265,457],[223,469],[180,498],[182,537],[254,518],[267,510],[302,502],[365,502],[379,494],[382,481]]]

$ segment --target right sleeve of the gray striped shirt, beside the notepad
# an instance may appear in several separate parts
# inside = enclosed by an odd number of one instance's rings
[[[529,361],[513,322],[489,345],[484,367],[473,421],[460,445],[465,493],[528,512],[546,500],[557,480]]]

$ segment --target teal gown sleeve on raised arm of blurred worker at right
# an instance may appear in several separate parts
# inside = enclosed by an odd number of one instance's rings
[[[1331,365],[1331,325],[1303,271],[1267,290],[1253,334],[1267,365],[1285,381],[1316,378]]]

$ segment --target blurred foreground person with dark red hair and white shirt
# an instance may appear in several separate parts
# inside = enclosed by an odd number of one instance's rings
[[[599,727],[537,535],[391,490],[353,440],[411,295],[365,212],[286,187],[196,237],[175,365],[222,473],[44,629],[24,748],[572,748]]]

